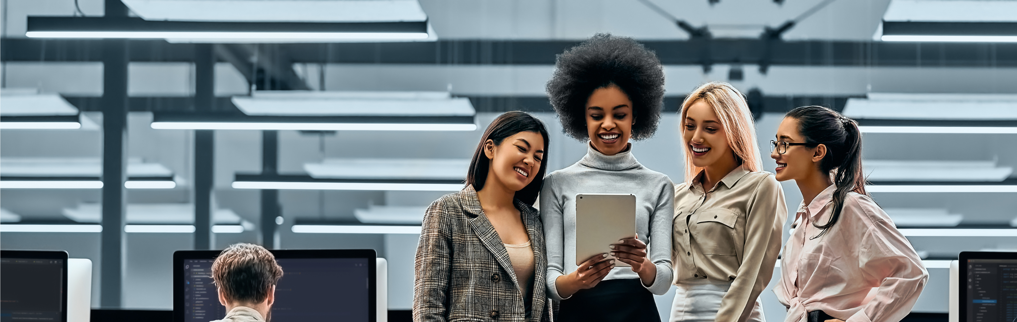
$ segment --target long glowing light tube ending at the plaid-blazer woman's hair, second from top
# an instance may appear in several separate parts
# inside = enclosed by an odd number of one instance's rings
[[[303,130],[303,131],[475,131],[476,124],[415,123],[261,123],[261,122],[152,122],[168,130]]]

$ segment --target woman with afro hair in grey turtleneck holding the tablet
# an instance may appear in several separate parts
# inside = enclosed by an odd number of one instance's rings
[[[635,40],[598,34],[558,55],[547,94],[563,132],[588,144],[582,159],[547,175],[540,193],[547,293],[560,301],[555,320],[660,321],[653,295],[671,283],[674,188],[636,160],[629,140],[657,130],[663,67]],[[610,256],[577,261],[577,193],[635,194],[636,238],[611,245]]]

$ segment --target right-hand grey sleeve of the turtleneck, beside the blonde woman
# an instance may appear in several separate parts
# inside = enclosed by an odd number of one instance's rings
[[[646,286],[650,293],[662,296],[671,288],[674,269],[671,263],[671,234],[672,217],[674,216],[674,184],[667,177],[664,177],[665,184],[661,185],[660,194],[657,196],[657,204],[650,213],[649,231],[650,236],[646,237],[647,256],[650,261],[657,266],[657,275],[653,279],[653,284]]]

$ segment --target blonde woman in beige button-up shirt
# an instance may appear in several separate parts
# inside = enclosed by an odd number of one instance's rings
[[[681,104],[685,182],[674,187],[671,321],[765,321],[787,215],[774,175],[761,170],[744,96],[710,82]]]

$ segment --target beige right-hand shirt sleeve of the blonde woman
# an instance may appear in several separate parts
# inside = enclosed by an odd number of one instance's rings
[[[756,299],[770,277],[780,254],[780,242],[787,218],[784,191],[773,175],[760,182],[749,204],[745,221],[745,244],[737,277],[720,302],[718,322],[744,322],[749,319]]]

